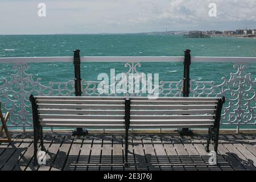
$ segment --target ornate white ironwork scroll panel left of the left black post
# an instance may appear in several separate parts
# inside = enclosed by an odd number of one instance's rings
[[[0,94],[3,111],[10,111],[10,127],[32,126],[32,110],[29,101],[30,94],[71,96],[74,93],[73,80],[68,82],[49,82],[41,84],[41,78],[33,78],[27,73],[27,64],[14,64],[14,73],[10,78],[3,78]]]

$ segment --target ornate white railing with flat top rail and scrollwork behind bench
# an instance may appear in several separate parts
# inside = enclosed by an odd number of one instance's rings
[[[138,73],[143,62],[183,62],[184,57],[81,57],[85,62],[123,62],[126,73]],[[193,62],[234,63],[234,72],[229,77],[222,77],[221,84],[214,81],[191,80],[191,96],[226,97],[222,112],[222,125],[256,126],[256,78],[246,72],[248,64],[256,64],[256,57],[191,57]],[[24,131],[32,126],[30,94],[65,95],[74,94],[73,80],[65,82],[48,82],[42,84],[42,78],[30,73],[28,63],[71,63],[73,57],[7,57],[0,58],[0,66],[13,64],[14,73],[10,76],[0,75],[0,96],[4,111],[10,111],[9,127],[19,127]],[[0,67],[1,68],[1,67]],[[73,69],[73,68],[72,68]],[[224,68],[225,69],[225,68]],[[54,74],[54,73],[52,73]],[[217,73],[216,73],[217,74]],[[54,75],[52,75],[54,76]],[[52,80],[53,81],[53,80]],[[82,80],[84,96],[100,96],[97,92],[99,81]],[[160,97],[182,96],[183,79],[176,81],[159,81]],[[111,94],[109,94],[111,95]],[[127,95],[127,94],[126,94]],[[131,95],[131,94],[129,94]],[[134,94],[141,96],[141,93]]]

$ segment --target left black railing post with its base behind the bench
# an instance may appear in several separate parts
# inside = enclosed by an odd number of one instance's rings
[[[75,68],[75,94],[76,96],[81,96],[82,95],[82,88],[81,88],[81,69],[80,69],[80,50],[77,49],[74,52],[74,68]],[[73,131],[73,135],[85,135],[87,134],[86,129],[82,128],[77,128],[76,130]]]

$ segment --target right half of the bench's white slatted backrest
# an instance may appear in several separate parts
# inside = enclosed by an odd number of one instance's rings
[[[164,97],[131,99],[130,128],[210,127],[219,98]]]

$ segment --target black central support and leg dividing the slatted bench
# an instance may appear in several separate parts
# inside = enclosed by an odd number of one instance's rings
[[[128,164],[128,135],[130,127],[130,110],[131,110],[131,100],[130,98],[125,99],[125,167],[129,167]]]

